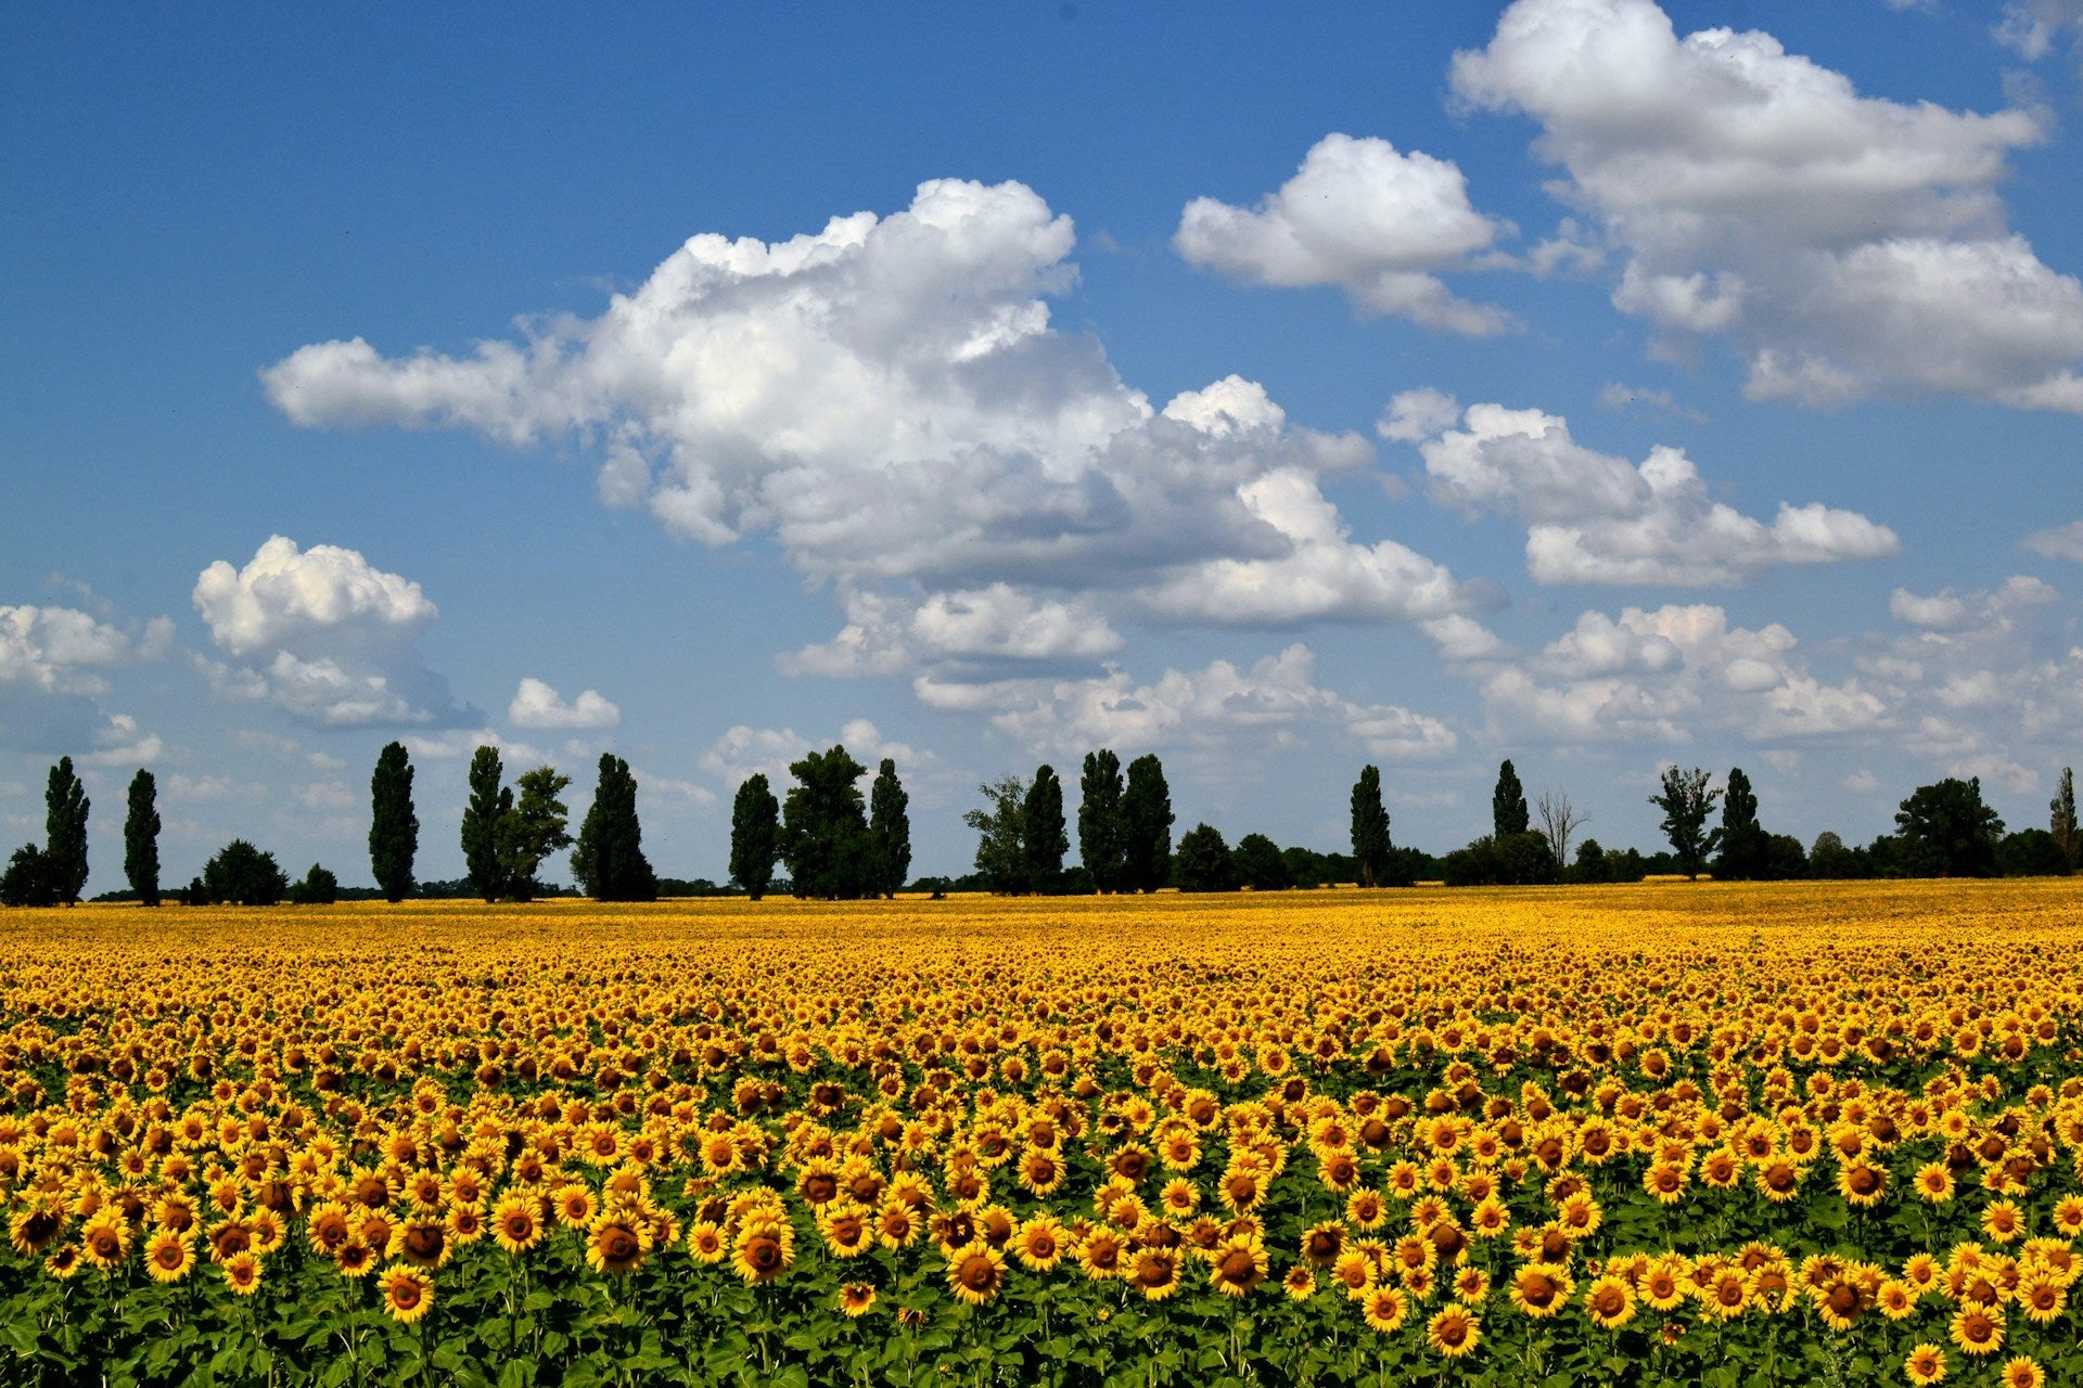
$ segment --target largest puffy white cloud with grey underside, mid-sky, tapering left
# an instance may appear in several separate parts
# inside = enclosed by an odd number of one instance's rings
[[[298,425],[577,437],[608,504],[702,543],[771,533],[848,626],[802,672],[1062,660],[1114,622],[1425,620],[1452,576],[1362,541],[1319,477],[1373,458],[1227,377],[1162,410],[1050,325],[1071,221],[1019,183],[923,183],[910,208],[764,243],[698,235],[598,318],[471,356],[362,339],[267,368]],[[1208,593],[1221,593],[1210,601]]]

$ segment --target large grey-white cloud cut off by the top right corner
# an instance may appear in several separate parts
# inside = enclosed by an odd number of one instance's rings
[[[1666,352],[1731,341],[1752,397],[2083,412],[2083,283],[1996,194],[2037,112],[1862,98],[1768,33],[1681,40],[1652,0],[1519,0],[1452,87],[1539,123],[1558,196],[1625,256],[1614,306]]]

